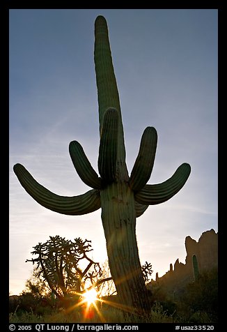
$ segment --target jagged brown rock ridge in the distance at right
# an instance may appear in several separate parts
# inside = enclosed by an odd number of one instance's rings
[[[214,229],[203,232],[198,242],[191,239],[191,236],[187,236],[185,239],[185,248],[187,252],[185,264],[179,262],[179,259],[177,259],[174,268],[173,264],[170,264],[169,271],[167,271],[164,276],[159,277],[158,273],[156,273],[156,280],[152,280],[148,283],[148,289],[152,289],[152,285],[154,285],[155,282],[175,293],[188,282],[192,282],[194,280],[195,269],[193,266],[193,256],[196,256],[198,262],[198,273],[209,271],[217,267],[218,233],[215,233]]]

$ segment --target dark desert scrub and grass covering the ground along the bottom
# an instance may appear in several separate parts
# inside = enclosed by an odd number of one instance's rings
[[[171,294],[162,290],[153,294],[153,305],[146,317],[128,315],[116,308],[116,303],[107,305],[100,301],[91,305],[88,315],[84,315],[84,305],[69,308],[56,308],[46,302],[36,287],[27,282],[27,290],[22,294],[22,302],[10,312],[10,323],[55,323],[55,322],[94,322],[94,323],[216,323],[218,322],[218,273],[217,269],[203,272],[198,280],[187,284],[178,299],[173,301]],[[38,288],[38,287],[37,287]],[[36,292],[35,292],[36,291]],[[34,293],[35,292],[35,293]],[[33,294],[34,293],[34,294]],[[39,295],[38,295],[39,294]],[[42,299],[42,301],[41,301]],[[105,300],[108,297],[105,297]],[[111,297],[109,297],[111,301]],[[86,306],[86,305],[85,305]]]

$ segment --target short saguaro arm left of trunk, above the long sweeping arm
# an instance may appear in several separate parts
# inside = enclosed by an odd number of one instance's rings
[[[81,144],[77,141],[72,141],[70,142],[69,150],[72,163],[81,180],[91,188],[101,189],[102,180],[91,166]]]

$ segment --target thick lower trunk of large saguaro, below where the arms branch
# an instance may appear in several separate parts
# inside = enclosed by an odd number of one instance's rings
[[[109,269],[126,312],[147,312],[148,292],[136,243],[134,196],[126,183],[113,183],[101,193],[102,225]]]

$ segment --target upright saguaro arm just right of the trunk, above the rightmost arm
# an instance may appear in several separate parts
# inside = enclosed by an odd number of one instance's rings
[[[154,127],[147,127],[141,137],[139,153],[130,176],[130,187],[134,191],[141,190],[148,180],[155,161],[157,147],[157,131]]]

